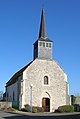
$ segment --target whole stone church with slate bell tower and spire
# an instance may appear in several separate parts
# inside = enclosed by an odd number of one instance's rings
[[[67,74],[52,58],[53,41],[46,32],[45,12],[42,9],[39,36],[34,43],[33,60],[16,72],[6,83],[6,100],[14,107],[26,104],[54,112],[69,105]]]

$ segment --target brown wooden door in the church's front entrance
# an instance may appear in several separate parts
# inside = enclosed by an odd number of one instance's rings
[[[49,98],[42,98],[42,107],[44,112],[50,112],[50,99]]]

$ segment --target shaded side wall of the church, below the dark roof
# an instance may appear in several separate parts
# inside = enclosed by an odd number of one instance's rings
[[[6,100],[12,102],[12,106],[15,108],[19,108],[21,106],[21,99],[19,99],[21,95],[21,80],[22,76],[19,76],[17,82],[12,85],[6,87]]]

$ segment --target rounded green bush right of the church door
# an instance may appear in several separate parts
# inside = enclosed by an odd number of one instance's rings
[[[64,113],[64,112],[74,112],[74,107],[71,105],[64,105],[58,107],[58,112]]]

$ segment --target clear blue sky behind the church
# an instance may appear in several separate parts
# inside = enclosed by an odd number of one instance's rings
[[[0,91],[33,60],[42,7],[53,60],[68,77],[70,94],[80,94],[80,0],[0,0]]]

